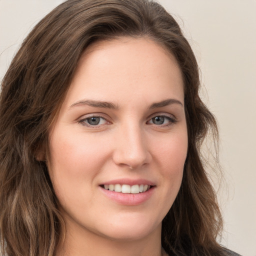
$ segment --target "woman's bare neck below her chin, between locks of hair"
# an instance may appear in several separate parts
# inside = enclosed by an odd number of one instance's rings
[[[73,229],[74,230],[74,229]],[[138,239],[111,239],[84,228],[70,232],[66,226],[63,243],[59,244],[56,256],[165,256],[161,248],[161,226]]]

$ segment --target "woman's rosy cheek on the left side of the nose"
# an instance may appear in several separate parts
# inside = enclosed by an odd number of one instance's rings
[[[65,204],[76,194],[87,194],[88,184],[102,168],[107,146],[99,147],[90,136],[57,130],[50,140],[49,175],[58,199]],[[100,155],[100,157],[98,157]]]

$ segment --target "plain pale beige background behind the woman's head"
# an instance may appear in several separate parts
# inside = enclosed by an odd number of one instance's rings
[[[61,0],[0,0],[0,79],[27,32]],[[221,243],[256,256],[256,0],[159,0],[174,14],[201,67],[216,115],[227,189]]]

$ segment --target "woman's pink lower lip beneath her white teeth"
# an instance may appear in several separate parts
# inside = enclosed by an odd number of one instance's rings
[[[155,189],[155,187],[152,186],[150,187],[149,190],[145,192],[131,194],[131,193],[121,193],[121,192],[106,190],[101,186],[99,186],[99,188],[107,197],[123,205],[139,205],[145,202],[146,200],[148,200]]]

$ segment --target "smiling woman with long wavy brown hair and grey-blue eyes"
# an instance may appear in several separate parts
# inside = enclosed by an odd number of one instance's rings
[[[68,0],[0,96],[5,255],[235,255],[200,158],[213,115],[176,21],[147,0]]]

